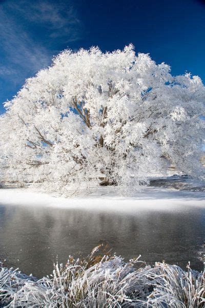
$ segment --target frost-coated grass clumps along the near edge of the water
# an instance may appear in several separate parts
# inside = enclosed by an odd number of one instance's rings
[[[189,265],[124,262],[103,245],[87,258],[69,257],[40,280],[0,267],[0,306],[8,307],[203,307],[204,274]]]

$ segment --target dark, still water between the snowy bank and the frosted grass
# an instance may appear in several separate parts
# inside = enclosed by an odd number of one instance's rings
[[[205,235],[205,209],[143,210],[132,214],[0,204],[0,260],[37,277],[50,274],[53,261],[89,254],[107,243],[126,260],[141,254],[149,263],[166,260],[202,270],[197,252]]]

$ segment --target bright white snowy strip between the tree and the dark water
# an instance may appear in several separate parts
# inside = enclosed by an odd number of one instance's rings
[[[205,207],[205,192],[145,187],[131,198],[121,197],[108,187],[83,197],[54,197],[29,188],[0,189],[0,203],[4,205],[88,208],[92,210],[131,211],[177,210],[187,206]]]

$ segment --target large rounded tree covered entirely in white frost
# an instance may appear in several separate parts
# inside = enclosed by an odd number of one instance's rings
[[[132,45],[65,50],[5,103],[3,180],[62,192],[83,183],[135,189],[166,162],[203,176],[204,102],[198,76],[174,77]]]

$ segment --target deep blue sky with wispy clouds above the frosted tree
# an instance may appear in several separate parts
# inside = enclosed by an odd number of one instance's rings
[[[65,48],[133,43],[157,63],[205,83],[205,1],[0,0],[0,113],[25,79]]]

